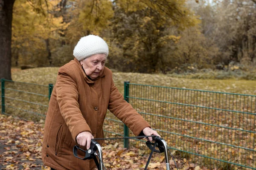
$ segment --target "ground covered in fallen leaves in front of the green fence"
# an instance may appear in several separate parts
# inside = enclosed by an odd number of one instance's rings
[[[0,115],[0,168],[2,170],[49,170],[41,160],[44,121],[27,122],[12,116]],[[103,161],[108,170],[143,170],[148,160],[140,150],[103,145]],[[207,170],[186,159],[175,159],[180,170]],[[170,158],[170,166],[175,169]],[[165,157],[153,154],[148,170],[166,169]]]

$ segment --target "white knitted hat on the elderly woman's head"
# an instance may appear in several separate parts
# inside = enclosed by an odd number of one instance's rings
[[[106,54],[108,57],[108,44],[101,37],[95,35],[82,37],[73,51],[73,55],[79,61],[94,54]]]

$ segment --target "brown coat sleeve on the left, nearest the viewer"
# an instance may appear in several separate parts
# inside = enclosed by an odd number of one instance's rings
[[[73,140],[76,142],[76,136],[89,131],[90,127],[85,121],[78,102],[78,88],[76,78],[67,68],[60,68],[56,82],[57,101],[67,127],[69,128]]]

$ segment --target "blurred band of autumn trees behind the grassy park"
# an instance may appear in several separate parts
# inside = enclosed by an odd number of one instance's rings
[[[59,67],[95,34],[113,71],[250,71],[255,9],[256,0],[15,0],[12,66]]]

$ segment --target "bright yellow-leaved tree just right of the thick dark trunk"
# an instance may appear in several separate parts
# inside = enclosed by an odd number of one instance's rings
[[[15,66],[52,66],[55,49],[65,44],[62,35],[68,23],[64,22],[64,14],[62,16],[62,3],[41,1],[15,1],[12,19],[12,64]]]

